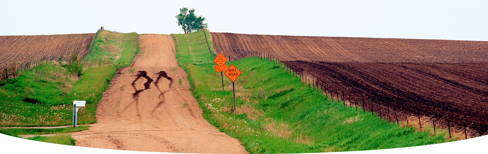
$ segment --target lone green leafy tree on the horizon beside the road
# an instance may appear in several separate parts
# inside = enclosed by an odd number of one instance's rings
[[[188,10],[188,8],[183,7],[183,9],[180,9],[180,14],[175,17],[178,19],[178,26],[182,26],[185,34],[207,28],[207,24],[203,23],[205,17],[197,17],[195,9]]]

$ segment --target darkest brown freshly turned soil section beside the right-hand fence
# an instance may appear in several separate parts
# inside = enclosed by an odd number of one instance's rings
[[[285,64],[308,79],[317,78],[316,84],[324,89],[334,94],[342,91],[357,102],[381,103],[409,114],[418,111],[436,120],[466,123],[482,134],[488,130],[488,63]]]

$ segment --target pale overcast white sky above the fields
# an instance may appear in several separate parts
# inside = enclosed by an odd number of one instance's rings
[[[178,34],[183,7],[210,32],[488,41],[488,0],[1,0],[0,35]]]

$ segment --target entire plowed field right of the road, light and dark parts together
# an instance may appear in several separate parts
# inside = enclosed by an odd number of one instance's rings
[[[488,131],[488,41],[212,33],[216,52],[279,58],[331,91]]]

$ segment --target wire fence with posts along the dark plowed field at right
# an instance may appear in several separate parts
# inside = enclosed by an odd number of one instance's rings
[[[418,124],[420,129],[423,129],[422,127],[424,127],[425,129],[427,125],[432,125],[434,134],[439,132],[438,130],[436,130],[436,128],[444,128],[447,129],[449,138],[453,137],[453,133],[462,133],[465,139],[468,139],[468,136],[479,137],[484,135],[481,132],[469,129],[469,126],[467,126],[466,123],[453,123],[450,120],[444,118],[433,118],[431,116],[422,115],[419,112],[417,112],[416,114],[404,113],[401,111],[397,111],[389,104],[385,105],[380,103],[364,102],[351,99],[350,96],[345,94],[344,91],[334,91],[331,89],[327,89],[327,86],[325,85],[317,85],[315,79],[313,78],[312,82],[310,83],[310,77],[307,78],[306,74],[288,67],[285,63],[280,61],[279,58],[277,58],[276,56],[272,56],[268,53],[261,53],[258,51],[244,51],[239,54],[233,55],[234,56],[229,55],[229,61],[237,61],[247,57],[257,57],[262,60],[267,60],[278,64],[281,68],[292,74],[293,77],[300,78],[300,80],[305,83],[305,85],[308,84],[308,86],[313,88],[314,90],[320,91],[323,94],[330,96],[331,99],[337,100],[337,103],[343,103],[346,106],[355,107],[356,111],[368,111],[371,112],[372,115],[376,113],[381,119],[388,120],[388,122],[396,122],[397,124],[400,124],[400,122],[402,122],[406,123],[407,126]]]

